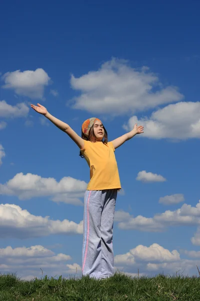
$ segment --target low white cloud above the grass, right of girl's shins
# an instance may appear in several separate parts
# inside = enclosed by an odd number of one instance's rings
[[[153,276],[155,272],[172,275],[177,271],[183,275],[193,275],[196,264],[199,265],[200,260],[181,259],[177,250],[169,251],[157,243],[149,247],[138,245],[114,257],[114,269],[133,276],[137,276],[137,269],[139,276]]]

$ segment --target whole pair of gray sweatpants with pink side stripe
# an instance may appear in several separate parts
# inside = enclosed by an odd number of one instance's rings
[[[86,190],[84,196],[82,274],[113,274],[112,232],[117,190]]]

